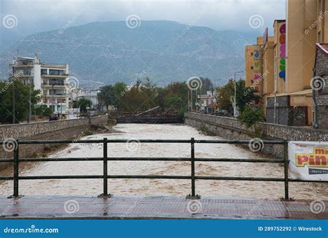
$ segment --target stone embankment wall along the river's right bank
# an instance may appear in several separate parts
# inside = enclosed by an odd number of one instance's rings
[[[328,130],[314,130],[294,126],[260,123],[254,128],[246,128],[238,119],[217,117],[207,114],[185,113],[185,124],[194,128],[206,127],[211,133],[225,139],[286,139],[288,141],[327,142]],[[283,157],[282,145],[264,146],[264,152]]]

